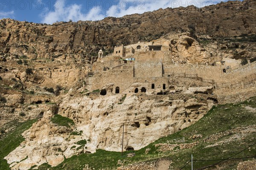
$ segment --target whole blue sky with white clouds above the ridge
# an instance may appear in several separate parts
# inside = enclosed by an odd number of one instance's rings
[[[225,1],[225,0],[222,0]],[[220,0],[1,0],[0,19],[52,24],[56,21],[102,20],[159,8],[197,7]]]

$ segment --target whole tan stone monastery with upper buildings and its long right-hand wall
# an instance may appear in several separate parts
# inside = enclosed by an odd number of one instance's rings
[[[256,62],[245,66],[235,65],[234,59],[223,59],[224,64],[213,65],[175,62],[168,43],[170,42],[162,40],[155,43],[138,42],[133,45],[115,47],[111,56],[99,58],[93,63],[93,77],[90,77],[90,83],[94,89],[91,90],[102,89],[112,84],[113,89],[110,90],[112,93],[122,93],[127,89],[134,93],[151,89],[158,89],[162,92],[168,90],[170,93],[170,90],[175,88],[171,83],[175,78],[199,80],[200,86],[214,88],[228,86],[230,88],[237,81],[246,81],[244,76],[253,79],[255,75],[253,70],[256,70]],[[139,86],[138,83],[140,83]],[[182,87],[183,85],[179,88]]]

